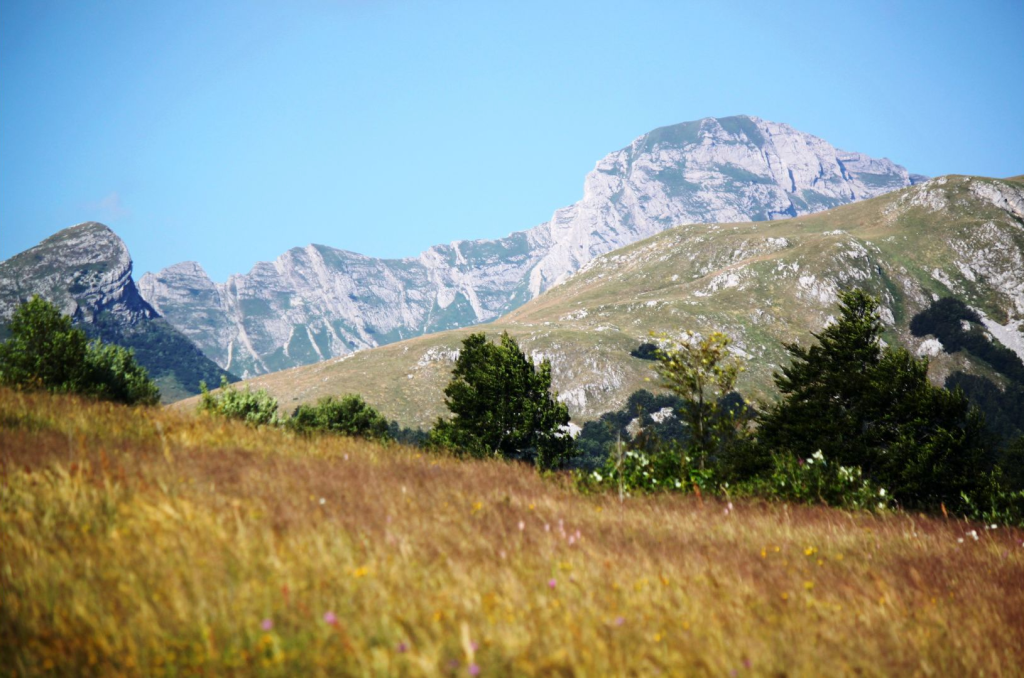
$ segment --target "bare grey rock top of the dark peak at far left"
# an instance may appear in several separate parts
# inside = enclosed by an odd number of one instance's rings
[[[156,317],[131,270],[128,248],[109,227],[87,221],[66,228],[0,263],[0,322],[36,294],[79,322],[103,311],[129,325]]]

